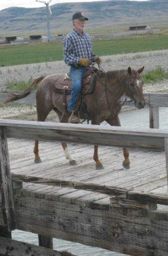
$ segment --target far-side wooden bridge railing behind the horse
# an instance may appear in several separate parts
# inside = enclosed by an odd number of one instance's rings
[[[19,91],[15,92],[20,93]],[[6,91],[0,92],[0,103],[2,103],[8,96],[10,95]],[[27,103],[27,104],[35,104],[36,93],[31,93],[28,97],[15,101],[15,103]],[[168,107],[168,93],[144,93],[144,97],[146,99],[146,106],[149,106],[149,127],[158,129],[159,128],[159,107]],[[125,100],[125,96],[122,96],[122,101]],[[134,102],[125,103],[126,105],[134,105]]]

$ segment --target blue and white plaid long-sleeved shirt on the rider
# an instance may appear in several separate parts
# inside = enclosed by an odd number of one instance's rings
[[[67,65],[78,64],[80,58],[90,59],[96,57],[92,51],[92,41],[90,35],[73,29],[63,39],[64,61]],[[90,65],[93,60],[90,60]]]

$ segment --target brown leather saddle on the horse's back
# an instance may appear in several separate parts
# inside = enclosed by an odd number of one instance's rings
[[[81,92],[75,104],[75,113],[80,108],[81,110],[80,112],[82,113],[82,116],[87,120],[91,120],[91,118],[88,114],[87,106],[86,106],[85,100],[83,99],[83,96],[93,93],[95,84],[96,84],[97,75],[99,72],[102,72],[102,71],[98,70],[98,68],[95,68],[95,67],[90,67],[86,70],[82,80]],[[66,95],[70,95],[72,92],[72,81],[70,79],[70,72],[67,72],[65,75],[62,75],[62,77],[59,78],[59,80],[55,83],[53,91],[54,93],[63,94],[62,104],[63,104],[64,113],[61,116],[61,119],[62,119],[62,117],[66,112],[66,104],[65,104]]]

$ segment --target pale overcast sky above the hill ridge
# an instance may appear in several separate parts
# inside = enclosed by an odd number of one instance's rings
[[[43,0],[48,2],[48,0]],[[72,2],[93,2],[102,0],[52,0],[50,3],[54,5],[55,3],[72,3]],[[149,0],[139,0],[139,1],[149,1]],[[35,0],[0,0],[0,10],[6,9],[8,7],[26,7],[26,8],[37,8],[45,6],[44,3],[36,2]]]

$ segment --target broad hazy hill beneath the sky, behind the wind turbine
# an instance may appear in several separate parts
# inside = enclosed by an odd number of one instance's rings
[[[168,1],[144,2],[109,0],[100,2],[58,3],[50,6],[52,34],[72,30],[72,15],[82,11],[89,18],[86,32],[124,29],[129,26],[147,25],[151,28],[167,26]],[[46,7],[10,7],[0,11],[0,36],[46,34]]]

